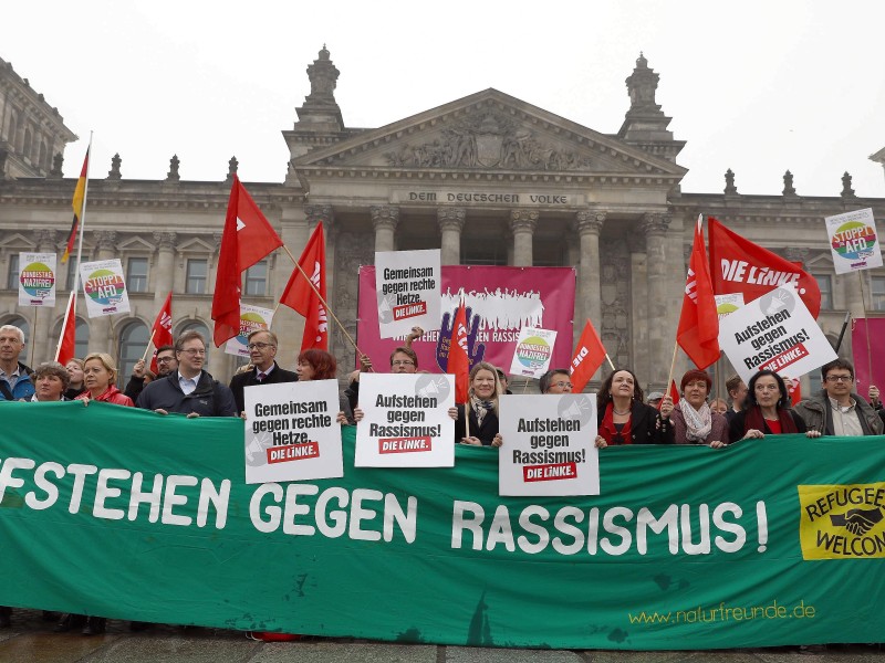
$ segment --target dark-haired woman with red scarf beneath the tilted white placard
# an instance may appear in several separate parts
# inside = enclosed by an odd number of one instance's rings
[[[761,439],[766,435],[806,433],[820,438],[819,431],[809,431],[805,421],[790,410],[790,393],[787,385],[773,370],[763,369],[750,378],[743,410],[735,414],[728,429],[728,438],[738,440]]]

